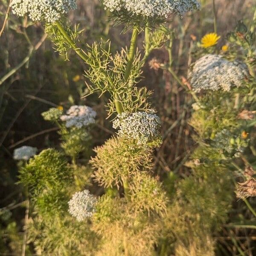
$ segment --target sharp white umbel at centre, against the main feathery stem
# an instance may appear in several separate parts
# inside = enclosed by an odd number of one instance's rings
[[[137,145],[147,148],[148,144],[161,138],[161,121],[153,112],[123,112],[113,121],[113,128],[119,129],[118,135]]]

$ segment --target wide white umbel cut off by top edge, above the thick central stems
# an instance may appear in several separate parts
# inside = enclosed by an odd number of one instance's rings
[[[103,0],[103,4],[111,12],[126,10],[147,17],[167,17],[171,13],[183,15],[200,8],[197,0]]]

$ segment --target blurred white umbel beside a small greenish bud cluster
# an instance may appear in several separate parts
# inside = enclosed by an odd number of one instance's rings
[[[96,112],[87,106],[74,105],[67,111],[67,115],[61,116],[61,121],[66,122],[66,127],[75,126],[81,128],[95,123]]]

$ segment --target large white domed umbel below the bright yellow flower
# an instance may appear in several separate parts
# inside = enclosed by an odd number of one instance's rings
[[[189,77],[192,90],[198,93],[201,90],[230,91],[231,87],[240,87],[247,75],[245,64],[207,54],[195,62]]]

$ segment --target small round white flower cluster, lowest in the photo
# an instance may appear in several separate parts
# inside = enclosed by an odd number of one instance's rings
[[[85,189],[84,191],[76,192],[68,202],[68,212],[78,221],[83,221],[96,212],[96,202],[97,199],[90,194],[89,190]]]

